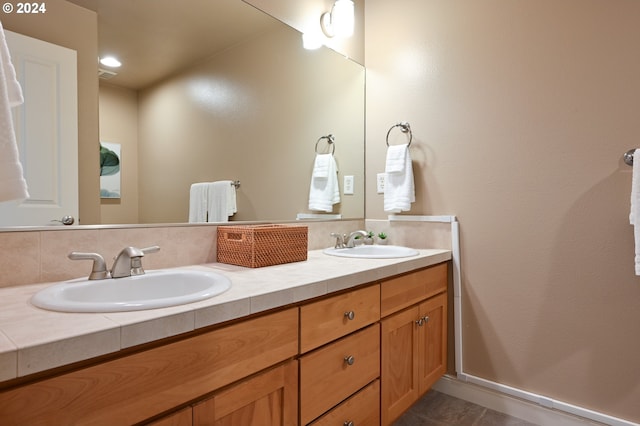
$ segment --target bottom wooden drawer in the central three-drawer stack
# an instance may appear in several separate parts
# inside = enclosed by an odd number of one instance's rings
[[[313,426],[355,426],[380,424],[380,380],[368,385],[320,417]]]

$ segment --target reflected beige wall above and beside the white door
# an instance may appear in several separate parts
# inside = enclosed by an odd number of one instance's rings
[[[64,0],[46,2],[43,14],[2,14],[10,31],[73,49],[78,59],[78,175],[82,224],[100,223],[98,145],[98,19]]]

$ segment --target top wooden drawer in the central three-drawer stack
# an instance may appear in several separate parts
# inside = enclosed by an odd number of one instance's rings
[[[380,319],[380,286],[371,285],[300,308],[300,352],[305,353]]]

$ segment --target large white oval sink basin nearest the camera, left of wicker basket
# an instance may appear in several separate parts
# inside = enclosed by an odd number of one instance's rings
[[[39,291],[31,303],[61,312],[139,311],[205,300],[230,287],[231,281],[217,272],[167,269],[125,278],[64,281]]]

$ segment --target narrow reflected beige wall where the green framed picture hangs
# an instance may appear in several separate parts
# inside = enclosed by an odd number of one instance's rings
[[[120,144],[120,198],[102,199],[102,223],[139,223],[138,92],[100,84],[100,141]]]

